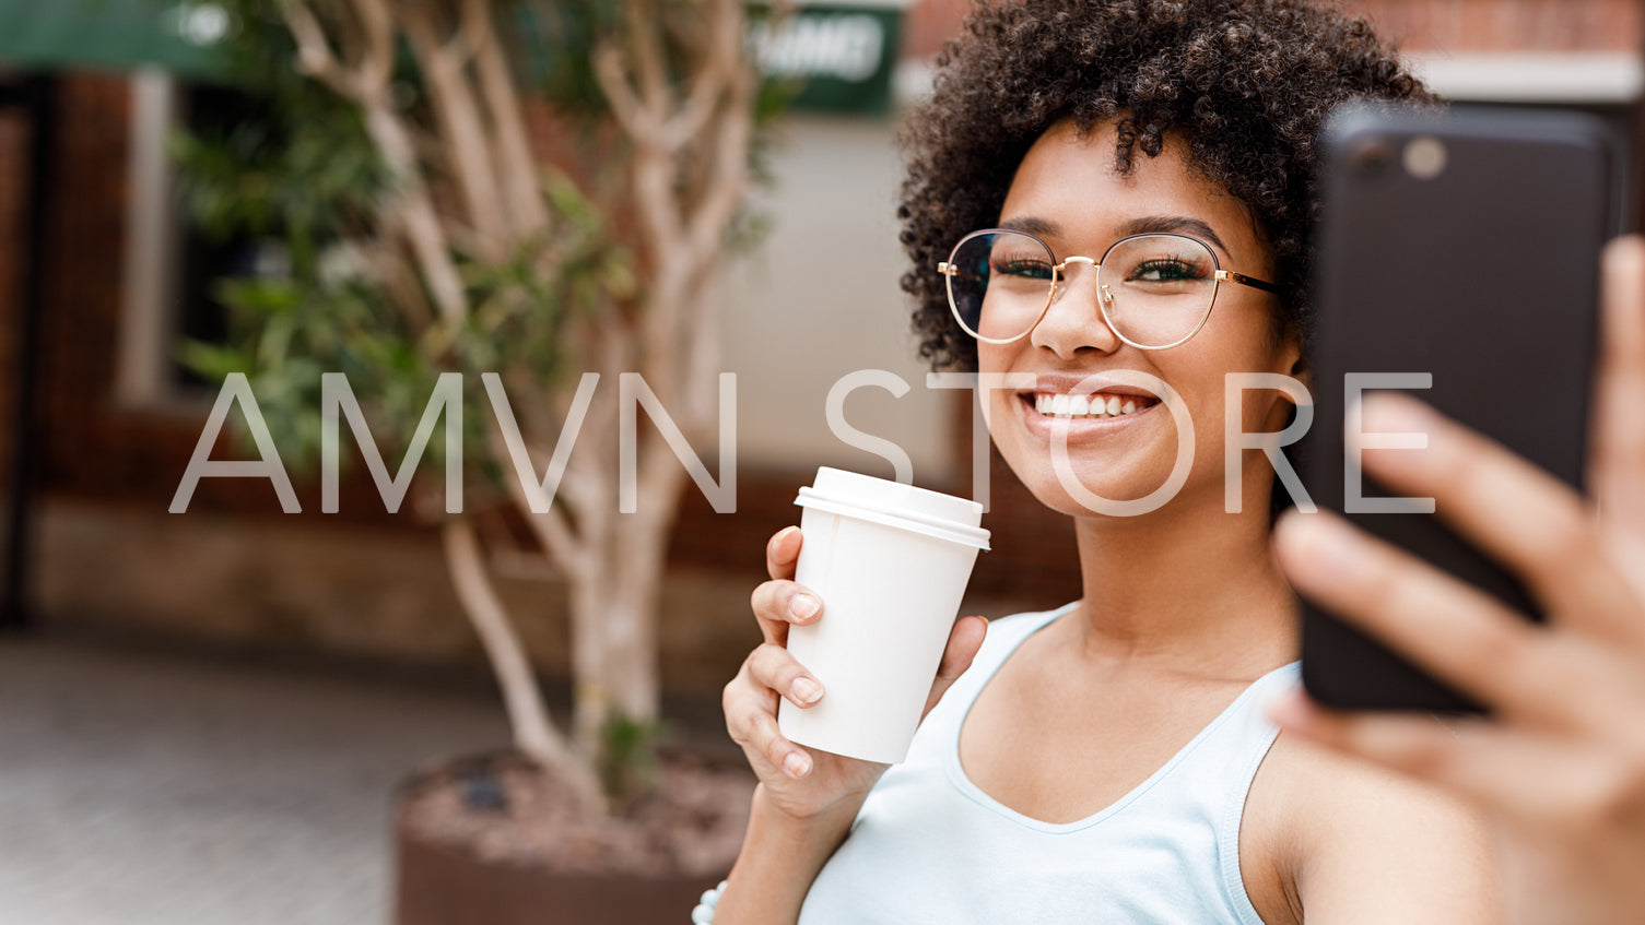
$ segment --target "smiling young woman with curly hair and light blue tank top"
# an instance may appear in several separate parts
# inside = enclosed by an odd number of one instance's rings
[[[1313,136],[1352,97],[1430,99],[1367,26],[1300,0],[974,12],[908,133],[903,284],[936,365],[1031,383],[987,393],[989,432],[1074,518],[1082,596],[961,619],[887,769],[776,729],[778,698],[827,697],[783,647],[827,605],[791,582],[798,531],[773,537],[765,644],[724,698],[760,785],[719,925],[1494,918],[1467,812],[1275,738],[1296,603],[1260,452],[1226,513],[1227,417],[1291,411],[1230,407],[1226,378],[1306,380]],[[1110,504],[1173,470],[1163,504]]]

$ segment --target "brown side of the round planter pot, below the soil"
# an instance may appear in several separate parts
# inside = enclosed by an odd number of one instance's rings
[[[572,874],[398,838],[396,925],[686,925],[702,877]]]

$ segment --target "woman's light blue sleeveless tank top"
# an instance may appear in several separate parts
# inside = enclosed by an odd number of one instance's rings
[[[959,728],[977,693],[1023,639],[1071,608],[990,623],[971,670],[818,874],[799,925],[1262,925],[1240,879],[1239,825],[1277,734],[1263,705],[1296,679],[1295,662],[1245,688],[1094,817],[1040,821],[966,777]]]

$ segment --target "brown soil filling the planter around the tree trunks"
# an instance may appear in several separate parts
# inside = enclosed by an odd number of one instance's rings
[[[568,874],[722,877],[748,825],[747,767],[668,751],[656,792],[620,817],[586,818],[535,764],[494,752],[416,775],[401,794],[406,835],[485,863]]]

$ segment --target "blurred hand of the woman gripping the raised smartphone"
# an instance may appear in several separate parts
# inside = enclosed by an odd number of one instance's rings
[[[1640,238],[1606,253],[1602,345],[1589,475],[1597,504],[1415,403],[1365,399],[1369,429],[1428,430],[1431,449],[1398,453],[1408,457],[1398,467],[1367,458],[1367,472],[1403,495],[1433,496],[1459,532],[1520,573],[1548,626],[1341,521],[1288,518],[1277,536],[1298,590],[1489,703],[1494,716],[1441,728],[1326,711],[1298,693],[1275,718],[1489,810],[1508,920],[1518,925],[1645,920]]]

